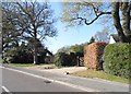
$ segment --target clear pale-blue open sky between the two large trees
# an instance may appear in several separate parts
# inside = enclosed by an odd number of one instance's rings
[[[60,17],[62,14],[61,2],[51,2],[50,4],[51,9],[55,11],[55,16]],[[55,26],[57,27],[58,36],[47,37],[47,39],[44,42],[46,47],[53,54],[56,54],[61,47],[90,42],[91,37],[94,36],[96,32],[102,31],[103,25],[96,22],[92,25],[70,27],[67,30],[66,24],[58,19],[58,22],[55,24]]]

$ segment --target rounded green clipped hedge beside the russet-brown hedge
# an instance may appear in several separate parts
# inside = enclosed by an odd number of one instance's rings
[[[104,52],[104,71],[114,75],[131,78],[131,44],[110,44]]]

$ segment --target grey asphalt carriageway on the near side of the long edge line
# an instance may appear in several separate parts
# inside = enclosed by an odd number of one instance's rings
[[[1,69],[1,68],[0,68]],[[2,68],[2,91],[4,92],[83,92],[53,81]]]

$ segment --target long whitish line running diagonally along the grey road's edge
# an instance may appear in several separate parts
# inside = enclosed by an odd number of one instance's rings
[[[5,68],[5,69],[11,70],[11,71],[15,71],[15,72],[20,72],[20,73],[23,73],[23,74],[32,75],[32,77],[35,77],[35,78],[38,78],[38,79],[44,79],[44,80],[48,80],[48,81],[51,81],[51,82],[56,82],[56,83],[63,84],[63,85],[67,85],[67,86],[71,86],[71,87],[74,87],[74,89],[79,89],[79,90],[82,90],[84,92],[100,92],[100,91],[93,90],[93,89],[90,89],[90,87],[79,86],[79,85],[68,83],[68,82],[52,80],[52,79],[44,78],[44,77],[40,77],[40,75],[32,74],[32,73],[28,73],[28,72],[24,72],[24,71],[11,69],[11,68]]]

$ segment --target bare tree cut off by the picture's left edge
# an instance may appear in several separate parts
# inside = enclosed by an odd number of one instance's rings
[[[14,47],[20,40],[21,33],[15,27],[15,5],[14,3],[2,2],[2,51]]]

